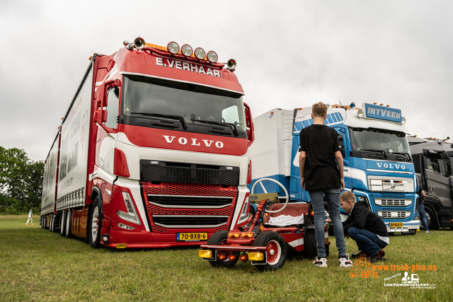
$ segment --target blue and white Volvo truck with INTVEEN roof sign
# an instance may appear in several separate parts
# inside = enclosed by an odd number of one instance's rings
[[[413,234],[420,229],[420,221],[405,122],[399,109],[369,103],[355,108],[352,103],[329,105],[325,124],[338,133],[345,190],[352,190],[358,202],[365,202],[378,214],[389,233]],[[275,108],[254,119],[251,185],[260,178],[274,178],[285,185],[292,202],[310,202],[309,193],[301,187],[299,134],[311,124],[311,106]]]

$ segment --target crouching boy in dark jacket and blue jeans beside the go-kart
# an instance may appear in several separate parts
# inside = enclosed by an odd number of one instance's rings
[[[345,235],[355,240],[359,252],[352,254],[352,258],[368,257],[370,262],[385,261],[385,248],[390,240],[387,227],[381,217],[369,211],[367,204],[356,202],[355,194],[345,191],[340,194],[341,209],[349,217],[343,221]]]

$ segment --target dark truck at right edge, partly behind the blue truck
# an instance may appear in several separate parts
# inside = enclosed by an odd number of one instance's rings
[[[415,173],[426,193],[428,228],[453,230],[453,142],[408,137]]]

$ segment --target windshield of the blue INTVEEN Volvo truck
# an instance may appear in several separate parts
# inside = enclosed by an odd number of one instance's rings
[[[412,161],[404,132],[376,128],[350,128],[352,156]]]

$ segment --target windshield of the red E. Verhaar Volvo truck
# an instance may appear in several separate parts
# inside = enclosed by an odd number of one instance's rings
[[[121,115],[125,123],[154,120],[147,127],[172,129],[225,129],[231,135],[245,133],[242,95],[192,83],[145,76],[125,76]],[[143,126],[144,124],[139,125]]]

